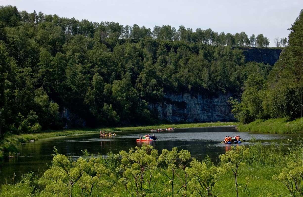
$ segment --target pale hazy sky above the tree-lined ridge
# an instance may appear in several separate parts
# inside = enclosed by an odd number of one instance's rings
[[[171,25],[178,29],[208,29],[221,33],[262,33],[274,46],[274,38],[287,37],[289,27],[303,8],[303,0],[0,0],[19,11],[42,11],[60,17],[92,22],[114,21],[122,25]]]

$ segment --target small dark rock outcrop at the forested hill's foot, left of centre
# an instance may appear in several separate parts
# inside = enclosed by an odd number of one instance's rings
[[[61,119],[65,122],[64,129],[72,128],[72,127],[84,127],[86,126],[86,122],[72,113],[67,108],[63,107],[63,111],[61,112]]]

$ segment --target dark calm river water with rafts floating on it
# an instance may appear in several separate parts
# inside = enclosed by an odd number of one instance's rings
[[[41,175],[52,160],[54,146],[60,154],[65,154],[77,159],[81,157],[81,150],[87,149],[92,154],[106,154],[109,150],[113,153],[119,153],[121,150],[128,151],[129,148],[142,146],[142,143],[135,139],[140,135],[148,134],[148,131],[135,132],[117,132],[116,137],[99,138],[98,134],[78,135],[71,137],[49,138],[38,140],[32,143],[19,145],[20,156],[7,160],[0,166],[0,181],[11,183],[13,173],[18,180],[20,175],[33,171]],[[209,128],[191,128],[177,129],[173,132],[155,133],[158,140],[143,142],[153,145],[159,153],[166,148],[171,150],[178,147],[179,150],[186,149],[191,152],[192,157],[203,159],[209,155],[214,161],[217,156],[224,154],[231,146],[220,142],[225,136],[240,135],[242,139],[249,140],[252,136],[262,141],[267,146],[275,141],[287,146],[287,139],[296,138],[297,135],[285,134],[254,134],[249,132],[237,132],[233,126],[209,127]],[[243,142],[241,145],[248,145],[249,142]]]

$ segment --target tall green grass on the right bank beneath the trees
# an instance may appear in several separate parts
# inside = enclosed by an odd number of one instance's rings
[[[239,124],[239,131],[250,131],[258,133],[301,133],[303,122],[301,119],[288,121],[286,118],[256,120],[249,124]]]

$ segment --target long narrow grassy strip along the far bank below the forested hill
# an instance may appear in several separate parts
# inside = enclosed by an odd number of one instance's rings
[[[21,134],[21,135],[6,135],[4,139],[0,141],[0,161],[4,157],[14,156],[18,153],[16,145],[27,143],[29,140],[38,140],[45,138],[54,138],[59,136],[71,136],[71,135],[82,135],[82,134],[90,134],[90,133],[98,133],[100,130],[105,131],[136,131],[136,130],[150,130],[157,128],[194,128],[194,127],[210,127],[210,126],[229,126],[229,125],[237,125],[237,122],[206,122],[206,123],[185,123],[185,124],[159,124],[159,125],[150,125],[150,126],[133,126],[133,127],[103,127],[97,129],[84,129],[84,130],[62,130],[62,131],[44,131],[40,133],[32,133],[32,134]]]

